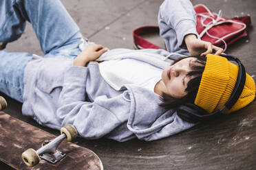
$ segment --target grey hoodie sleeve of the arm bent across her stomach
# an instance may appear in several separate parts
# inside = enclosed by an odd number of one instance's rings
[[[64,85],[58,99],[56,116],[61,126],[72,124],[83,138],[100,138],[120,125],[124,118],[120,115],[129,107],[122,95],[107,98],[105,95],[97,97],[94,102],[85,101],[87,67],[71,66],[64,75]],[[126,113],[123,113],[126,114]]]

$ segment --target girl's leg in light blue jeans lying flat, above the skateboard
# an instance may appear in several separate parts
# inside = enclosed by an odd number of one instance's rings
[[[0,51],[0,91],[23,102],[23,74],[26,64],[32,60],[29,53]]]

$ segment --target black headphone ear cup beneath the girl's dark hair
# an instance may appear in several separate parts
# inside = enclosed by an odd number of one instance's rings
[[[206,111],[195,104],[184,104],[177,108],[178,116],[189,123],[198,123],[202,121],[200,115],[206,114]]]

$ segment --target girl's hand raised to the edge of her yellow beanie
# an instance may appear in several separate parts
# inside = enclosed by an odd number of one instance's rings
[[[206,56],[207,53],[213,53],[213,51],[215,51],[215,55],[220,55],[223,52],[222,48],[212,45],[211,42],[198,40],[195,34],[186,35],[184,41],[191,56],[200,54],[201,56]]]

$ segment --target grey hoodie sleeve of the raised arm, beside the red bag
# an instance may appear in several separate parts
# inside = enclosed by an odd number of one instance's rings
[[[187,34],[198,36],[196,14],[189,0],[165,0],[158,13],[158,25],[170,52],[178,51],[178,47],[186,49],[183,40]]]

